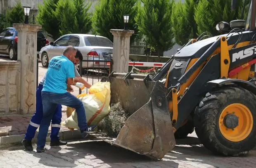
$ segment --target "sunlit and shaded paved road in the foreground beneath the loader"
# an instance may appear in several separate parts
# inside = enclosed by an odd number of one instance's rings
[[[69,141],[43,153],[20,146],[0,150],[0,168],[255,168],[255,164],[256,150],[243,157],[215,156],[197,137],[177,140],[161,161],[92,140]]]

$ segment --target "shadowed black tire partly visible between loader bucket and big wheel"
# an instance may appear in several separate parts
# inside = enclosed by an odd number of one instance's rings
[[[181,126],[175,133],[175,139],[183,139],[186,138],[188,134],[193,133],[194,131],[194,123],[191,120],[188,120],[185,125]]]

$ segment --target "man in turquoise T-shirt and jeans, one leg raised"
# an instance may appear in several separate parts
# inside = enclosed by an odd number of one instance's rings
[[[45,141],[50,126],[52,116],[54,115],[57,104],[63,104],[76,109],[78,126],[83,137],[87,132],[94,130],[97,126],[88,126],[86,122],[85,109],[83,102],[67,92],[67,85],[81,87],[81,83],[74,82],[74,62],[77,62],[76,49],[73,46],[67,46],[63,55],[53,57],[45,75],[45,83],[41,92],[43,103],[43,119],[40,123],[38,132],[37,152],[47,150]]]

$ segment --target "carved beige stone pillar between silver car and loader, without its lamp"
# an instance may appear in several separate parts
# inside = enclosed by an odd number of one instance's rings
[[[110,29],[110,32],[114,35],[113,71],[127,73],[129,67],[130,36],[134,31]]]

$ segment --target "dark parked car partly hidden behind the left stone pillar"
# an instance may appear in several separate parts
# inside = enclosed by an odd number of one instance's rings
[[[17,60],[18,31],[13,27],[5,28],[0,32],[0,54],[9,55],[11,60]],[[42,31],[37,32],[37,52],[49,44]]]

